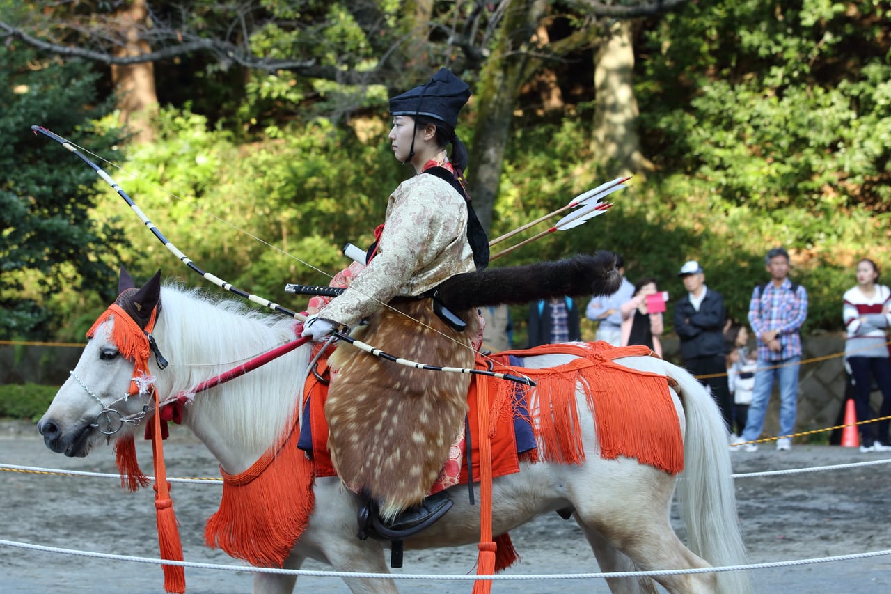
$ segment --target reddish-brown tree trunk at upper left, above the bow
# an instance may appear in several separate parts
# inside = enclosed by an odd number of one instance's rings
[[[151,47],[139,37],[139,29],[148,25],[146,0],[134,0],[119,12],[122,33],[127,45],[115,49],[116,56],[148,54]],[[151,117],[158,111],[155,72],[151,62],[119,66],[112,64],[111,80],[119,93],[119,122],[135,135],[133,141],[143,144],[154,139]]]

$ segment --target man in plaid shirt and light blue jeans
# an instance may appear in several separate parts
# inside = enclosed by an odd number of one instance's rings
[[[764,413],[771,399],[773,380],[780,384],[780,434],[795,428],[798,400],[798,364],[801,361],[801,326],[807,318],[807,291],[789,281],[789,253],[773,248],[765,257],[771,281],[758,285],[748,304],[748,323],[758,339],[758,367],[755,390],[748,408],[742,441],[755,441],[764,428]],[[746,451],[756,444],[743,446]],[[789,450],[791,439],[777,440],[777,450]],[[733,447],[733,449],[736,449]]]

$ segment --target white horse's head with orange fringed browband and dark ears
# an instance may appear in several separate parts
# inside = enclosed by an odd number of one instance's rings
[[[160,301],[160,271],[136,288],[121,268],[118,299],[87,333],[87,344],[37,424],[46,447],[66,456],[86,456],[111,435],[133,431],[151,406],[146,361],[148,332]]]

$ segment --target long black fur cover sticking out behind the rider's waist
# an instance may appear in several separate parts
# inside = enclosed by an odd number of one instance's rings
[[[436,296],[449,308],[462,310],[499,303],[519,305],[566,295],[609,295],[616,293],[621,283],[616,254],[601,250],[566,260],[486,268],[452,276],[439,285]]]

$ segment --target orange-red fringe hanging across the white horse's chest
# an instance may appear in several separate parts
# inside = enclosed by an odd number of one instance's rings
[[[208,547],[250,565],[284,565],[315,506],[313,464],[298,450],[298,436],[292,430],[277,454],[267,452],[241,474],[220,468],[223,499],[204,530]]]

